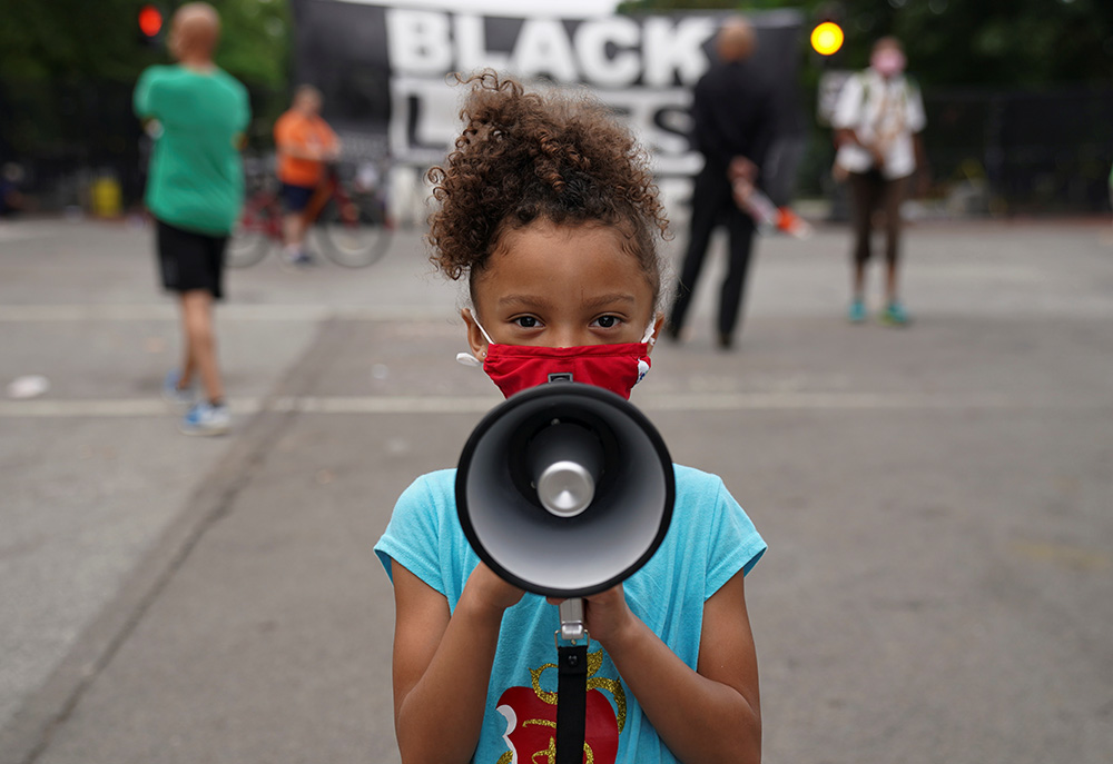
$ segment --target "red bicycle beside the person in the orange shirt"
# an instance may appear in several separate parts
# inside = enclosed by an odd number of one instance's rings
[[[365,268],[386,254],[394,225],[386,210],[386,185],[373,165],[353,168],[347,181],[329,165],[325,179],[303,215],[314,249],[336,265]],[[227,262],[246,268],[259,262],[283,241],[283,208],[278,181],[260,176],[257,190],[244,204],[236,230],[228,240]]]

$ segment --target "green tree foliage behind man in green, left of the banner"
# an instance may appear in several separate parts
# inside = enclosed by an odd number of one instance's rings
[[[164,12],[161,41],[139,31],[139,9]],[[81,163],[132,162],[138,125],[131,89],[154,63],[174,0],[0,0],[0,152]],[[211,0],[220,13],[216,62],[252,92],[253,143],[269,140],[287,105],[286,0]]]

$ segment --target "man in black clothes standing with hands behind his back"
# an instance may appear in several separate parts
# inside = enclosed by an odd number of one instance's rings
[[[703,155],[703,169],[696,176],[688,249],[668,326],[668,336],[679,339],[711,231],[725,225],[730,261],[719,295],[717,324],[723,349],[735,343],[756,230],[754,218],[739,208],[745,200],[736,200],[733,189],[736,185],[760,187],[776,120],[772,88],[748,63],[756,47],[757,36],[749,22],[740,17],[729,19],[716,37],[718,61],[696,83],[693,139]]]

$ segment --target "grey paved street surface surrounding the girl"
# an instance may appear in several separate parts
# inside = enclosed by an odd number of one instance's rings
[[[765,761],[1107,764],[1113,229],[913,227],[905,330],[844,321],[847,236],[759,242],[736,353],[706,274],[633,396],[769,543]],[[150,239],[0,224],[0,386],[49,380],[0,397],[0,764],[393,764],[371,549],[500,400],[454,361],[462,292],[415,232],[233,271],[235,430],[187,438]]]

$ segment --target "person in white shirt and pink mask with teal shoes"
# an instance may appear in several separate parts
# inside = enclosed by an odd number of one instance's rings
[[[908,323],[897,289],[900,202],[908,178],[926,168],[920,131],[927,120],[919,88],[904,76],[900,41],[883,37],[874,43],[869,68],[843,87],[831,117],[835,128],[836,178],[850,185],[854,226],[854,280],[848,318],[866,320],[866,265],[878,212],[885,219],[885,309],[881,320]]]

